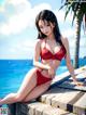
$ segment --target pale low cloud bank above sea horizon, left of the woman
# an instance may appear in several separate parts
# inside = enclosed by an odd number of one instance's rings
[[[27,39],[22,40],[20,43],[10,42],[6,47],[2,46],[2,49],[0,49],[0,59],[32,59],[34,43],[35,40]]]

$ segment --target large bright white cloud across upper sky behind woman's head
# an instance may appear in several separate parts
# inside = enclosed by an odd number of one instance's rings
[[[10,11],[11,9],[11,11]],[[12,9],[13,14],[12,14]],[[41,3],[31,7],[28,0],[8,0],[5,7],[6,22],[0,24],[0,34],[2,35],[16,35],[20,34],[27,27],[34,27],[34,18],[37,14],[43,9],[52,9],[48,3]],[[9,12],[9,13],[8,13]],[[11,12],[11,13],[10,13]],[[58,22],[64,22],[64,11],[54,10]],[[12,15],[11,15],[12,14]],[[70,22],[70,14],[67,17],[67,22]]]

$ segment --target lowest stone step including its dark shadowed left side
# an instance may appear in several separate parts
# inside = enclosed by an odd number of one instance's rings
[[[14,103],[9,108],[9,115],[76,115],[38,101]]]

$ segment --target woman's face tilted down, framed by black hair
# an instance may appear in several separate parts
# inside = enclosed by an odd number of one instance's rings
[[[40,20],[39,27],[41,33],[48,37],[49,35],[53,34],[53,29],[55,26],[53,23],[48,23],[47,21]]]

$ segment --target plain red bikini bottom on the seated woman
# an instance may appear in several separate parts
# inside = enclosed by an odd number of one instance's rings
[[[37,86],[45,84],[49,80],[52,80],[52,78],[45,77],[44,75],[41,74],[39,69],[37,71]]]

